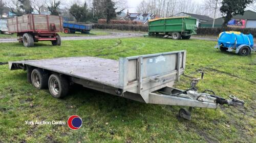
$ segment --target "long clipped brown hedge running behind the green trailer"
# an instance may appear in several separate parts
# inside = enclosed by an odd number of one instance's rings
[[[131,24],[99,24],[94,23],[94,28],[99,29],[111,29],[111,30],[121,30],[121,31],[141,31],[147,32],[148,27],[147,25],[131,25]],[[243,34],[252,34],[253,37],[256,37],[256,28],[234,28],[234,27],[227,27],[227,28],[197,28],[197,35],[203,36],[218,36],[223,31],[240,31]]]

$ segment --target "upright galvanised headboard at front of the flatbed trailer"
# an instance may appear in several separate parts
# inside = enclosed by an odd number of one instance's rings
[[[184,72],[186,51],[120,58],[119,85],[124,91],[142,94],[178,80]]]

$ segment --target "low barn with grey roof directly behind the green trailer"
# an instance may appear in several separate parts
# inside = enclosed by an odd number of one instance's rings
[[[174,17],[179,17],[179,16],[191,16],[191,17],[196,18],[197,19],[197,27],[199,27],[201,22],[213,20],[212,18],[210,18],[209,16],[206,16],[206,15],[199,15],[199,14],[192,14],[192,13],[185,13],[185,12],[181,12],[181,13],[174,15]]]

